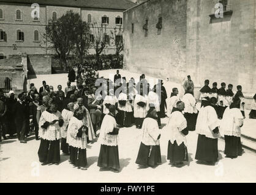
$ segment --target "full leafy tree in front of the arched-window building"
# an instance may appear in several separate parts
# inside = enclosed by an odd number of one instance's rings
[[[67,70],[67,57],[70,52],[77,54],[82,63],[83,56],[89,49],[90,31],[88,24],[81,21],[78,13],[70,10],[55,21],[50,19],[45,31],[43,35],[45,43],[50,43],[50,48],[55,49],[59,57],[59,65],[64,71]]]

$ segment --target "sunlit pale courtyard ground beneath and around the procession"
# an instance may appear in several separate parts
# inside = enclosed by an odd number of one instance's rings
[[[122,76],[138,78],[139,74],[120,71]],[[100,72],[100,76],[108,77],[115,71]],[[146,76],[147,77],[147,76]],[[149,79],[149,77],[147,77]],[[37,76],[30,80],[36,87],[47,80],[56,89],[58,84],[66,86],[67,75]],[[168,82],[168,96],[171,88],[180,87],[176,83]],[[168,118],[162,119],[167,124]],[[250,126],[244,124],[244,129],[255,130],[256,121],[250,121]],[[243,129],[242,129],[243,130]],[[167,161],[167,129],[162,129],[160,149],[162,165],[156,168],[138,169],[135,160],[141,141],[141,130],[134,127],[122,128],[119,132],[119,159],[121,172],[99,171],[97,158],[100,144],[88,144],[88,170],[81,171],[69,164],[69,156],[61,154],[61,163],[57,165],[41,166],[37,156],[40,141],[34,135],[28,138],[27,144],[21,144],[16,139],[5,140],[0,143],[0,182],[256,182],[256,154],[244,149],[244,154],[236,159],[225,158],[223,140],[219,140],[219,162],[215,166],[200,165],[195,160],[197,134],[189,132],[187,135],[189,163],[182,168],[169,165]],[[255,133],[254,133],[255,135]]]

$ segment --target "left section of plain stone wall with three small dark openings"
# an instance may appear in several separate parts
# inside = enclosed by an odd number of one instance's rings
[[[171,75],[174,80],[181,81],[186,70],[186,9],[186,0],[152,0],[124,12],[127,69],[157,77]],[[160,34],[156,28],[159,17],[162,17]],[[145,37],[146,19],[148,35]]]

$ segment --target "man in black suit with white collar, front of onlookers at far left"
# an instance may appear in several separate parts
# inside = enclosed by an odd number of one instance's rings
[[[20,143],[27,143],[25,141],[26,133],[26,105],[24,103],[24,93],[18,94],[18,101],[13,107],[15,126],[17,129],[18,140]]]

